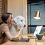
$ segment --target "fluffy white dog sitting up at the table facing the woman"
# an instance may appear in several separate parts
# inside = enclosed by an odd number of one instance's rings
[[[26,26],[25,18],[23,16],[16,16],[14,18],[14,27],[12,26],[11,34],[19,36],[21,35],[23,28]]]

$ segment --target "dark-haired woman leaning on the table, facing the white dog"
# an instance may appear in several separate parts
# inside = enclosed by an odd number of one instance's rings
[[[15,40],[16,36],[10,34],[10,28],[13,24],[13,17],[11,13],[6,13],[1,16],[2,23],[0,23],[0,43],[4,43],[9,40]]]

